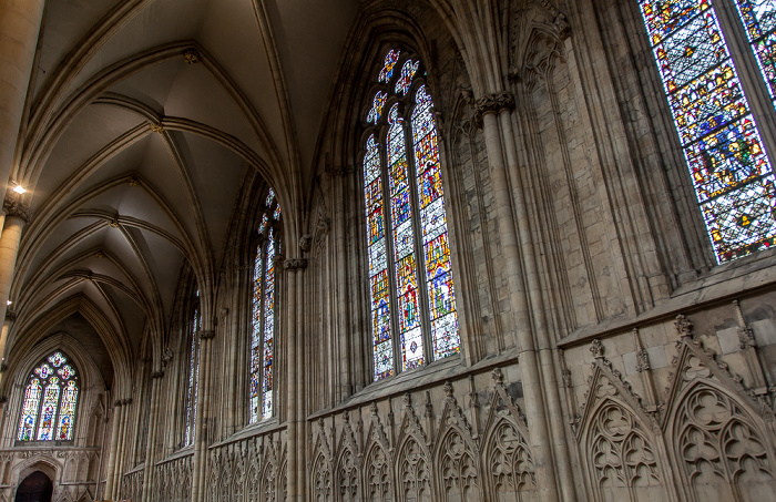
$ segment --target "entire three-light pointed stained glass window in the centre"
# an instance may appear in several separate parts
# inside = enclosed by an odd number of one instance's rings
[[[388,51],[365,116],[375,380],[460,350],[437,125],[425,75],[416,57]]]

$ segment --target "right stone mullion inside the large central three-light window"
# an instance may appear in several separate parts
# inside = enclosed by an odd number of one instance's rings
[[[405,144],[407,154],[407,177],[409,184],[409,196],[412,204],[412,237],[415,245],[415,268],[418,274],[418,310],[423,340],[423,360],[426,365],[433,360],[433,344],[431,342],[431,319],[428,311],[428,284],[426,277],[426,249],[423,248],[422,225],[420,224],[420,199],[418,197],[418,170],[415,158],[415,143],[412,142],[412,120],[411,115],[405,121]]]

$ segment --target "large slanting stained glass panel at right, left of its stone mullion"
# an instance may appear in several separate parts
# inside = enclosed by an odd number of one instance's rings
[[[769,247],[774,175],[712,1],[640,6],[717,262]]]

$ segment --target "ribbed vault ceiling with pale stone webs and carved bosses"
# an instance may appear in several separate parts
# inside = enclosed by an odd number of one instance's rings
[[[247,174],[304,196],[356,3],[48,1],[11,173],[33,214],[11,342],[85,319],[124,366],[167,332],[182,265],[221,267]]]

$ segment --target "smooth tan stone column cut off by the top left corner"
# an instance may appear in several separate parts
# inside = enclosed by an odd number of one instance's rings
[[[44,3],[44,0],[0,2],[0,189],[13,171],[11,163],[30,86]]]

